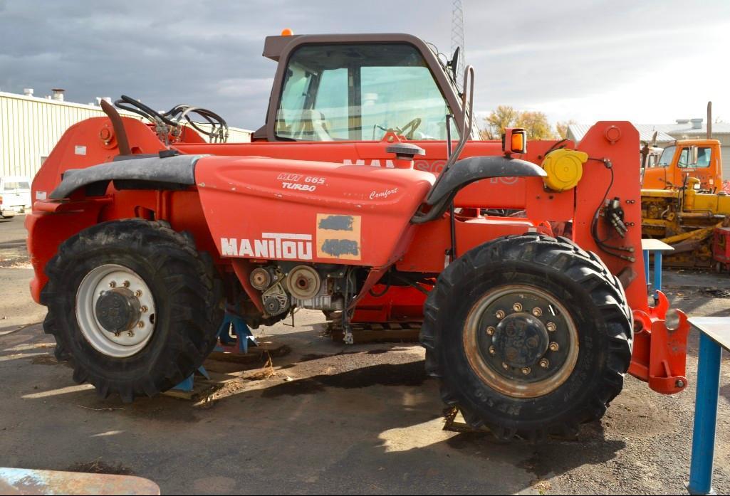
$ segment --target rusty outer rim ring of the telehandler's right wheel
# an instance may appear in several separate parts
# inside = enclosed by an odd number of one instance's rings
[[[507,379],[496,368],[489,365],[488,360],[485,360],[485,356],[480,352],[480,333],[484,332],[480,328],[480,321],[485,311],[499,298],[510,295],[515,297],[516,302],[524,298],[524,295],[537,296],[548,301],[563,316],[564,325],[561,326],[562,328],[558,328],[556,332],[564,333],[563,340],[568,346],[566,357],[559,370],[545,380],[526,384],[514,379]],[[538,398],[555,391],[571,376],[578,359],[578,331],[565,306],[550,293],[526,285],[515,284],[501,287],[483,295],[466,317],[462,338],[466,359],[469,361],[472,370],[488,387],[512,398]]]

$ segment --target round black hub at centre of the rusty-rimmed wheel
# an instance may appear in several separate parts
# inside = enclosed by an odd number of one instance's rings
[[[526,312],[504,317],[492,338],[498,357],[510,367],[535,365],[548,351],[548,329],[539,319]]]

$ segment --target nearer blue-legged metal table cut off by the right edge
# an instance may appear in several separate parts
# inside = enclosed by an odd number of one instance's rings
[[[723,348],[730,351],[730,317],[691,317],[699,329],[697,393],[692,434],[692,462],[687,490],[691,495],[714,495],[712,457],[718,420],[720,363]]]

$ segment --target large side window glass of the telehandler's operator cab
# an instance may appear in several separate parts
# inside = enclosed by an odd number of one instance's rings
[[[410,44],[313,44],[289,59],[277,137],[301,141],[446,139],[445,98]],[[458,139],[456,126],[453,138]]]

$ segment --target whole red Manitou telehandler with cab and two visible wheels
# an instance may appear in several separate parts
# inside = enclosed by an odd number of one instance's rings
[[[31,292],[75,381],[152,396],[225,311],[255,327],[303,308],[341,311],[345,336],[358,311],[416,314],[442,398],[501,438],[575,433],[626,371],[684,389],[686,317],[647,297],[630,123],[472,139],[473,70],[458,88],[456,61],[406,34],[270,36],[264,55],[252,143],[123,98],[150,123],[104,104],[35,177]]]

